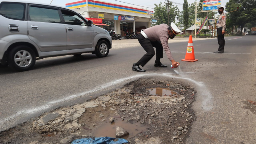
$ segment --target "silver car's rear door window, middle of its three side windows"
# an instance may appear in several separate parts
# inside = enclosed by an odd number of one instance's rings
[[[58,9],[29,6],[30,21],[61,23]]]

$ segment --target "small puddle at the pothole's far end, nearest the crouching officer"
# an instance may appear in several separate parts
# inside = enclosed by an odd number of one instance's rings
[[[157,96],[165,96],[165,95],[174,95],[178,94],[177,92],[174,92],[173,90],[170,90],[168,88],[162,88],[162,87],[157,87],[157,88],[150,88],[147,89],[151,95],[157,95]]]

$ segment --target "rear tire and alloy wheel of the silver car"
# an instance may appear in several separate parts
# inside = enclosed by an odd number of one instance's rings
[[[35,52],[26,45],[14,47],[8,54],[10,68],[17,71],[26,71],[33,68],[36,63]]]

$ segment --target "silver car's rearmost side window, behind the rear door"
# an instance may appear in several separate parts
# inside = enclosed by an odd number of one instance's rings
[[[0,14],[8,19],[25,20],[26,4],[2,2],[0,4]]]

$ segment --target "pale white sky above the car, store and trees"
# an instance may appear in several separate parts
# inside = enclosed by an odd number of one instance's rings
[[[77,2],[77,1],[81,1],[81,0],[36,0],[37,2],[40,3],[46,3],[46,4],[50,4],[52,2],[52,4],[54,5],[59,5],[59,6],[63,6],[65,7],[67,3],[72,3],[72,2]],[[155,5],[154,4],[160,4],[160,2],[162,2],[162,4],[164,4],[164,2],[166,2],[165,0],[100,0],[100,1],[104,1],[104,2],[108,2],[108,3],[114,3],[114,4],[122,4],[122,5],[126,5],[126,6],[131,6],[131,7],[137,7],[137,8],[143,8],[140,6],[144,6],[144,7],[148,7],[148,10],[154,11]],[[121,2],[119,2],[121,1]],[[183,0],[170,0],[172,2],[176,2],[176,3],[180,3],[183,4],[184,1]],[[188,4],[192,4],[195,2],[195,0],[187,0]],[[221,0],[221,6],[224,6],[229,0]],[[122,2],[126,2],[126,3],[122,3]],[[199,2],[199,0],[197,0],[197,2]],[[127,4],[130,3],[130,4]],[[132,4],[136,4],[136,5],[132,5]],[[182,11],[182,5],[180,4],[174,4],[175,6],[177,5],[179,10]],[[140,5],[140,6],[137,6]]]

